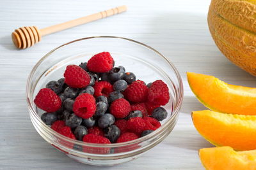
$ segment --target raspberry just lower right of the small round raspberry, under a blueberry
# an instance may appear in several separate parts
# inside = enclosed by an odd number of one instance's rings
[[[127,121],[127,129],[138,135],[140,135],[141,132],[145,131],[145,128],[146,128],[146,122],[141,117],[130,118]]]

